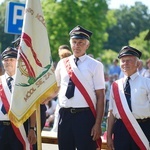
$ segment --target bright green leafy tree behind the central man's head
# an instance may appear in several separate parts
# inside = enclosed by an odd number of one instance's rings
[[[107,40],[107,3],[105,0],[43,0],[43,12],[47,23],[52,56],[58,60],[57,50],[69,45],[69,32],[81,25],[93,32],[88,53],[97,56]]]

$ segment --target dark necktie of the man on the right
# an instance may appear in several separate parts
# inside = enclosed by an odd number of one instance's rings
[[[130,77],[127,78],[126,86],[124,88],[124,93],[125,93],[125,96],[127,99],[128,106],[129,106],[130,110],[132,111],[132,108],[131,108],[131,89],[130,89],[129,80],[130,80]]]

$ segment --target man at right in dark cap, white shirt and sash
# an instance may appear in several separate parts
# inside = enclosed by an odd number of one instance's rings
[[[109,150],[150,150],[150,79],[137,73],[142,53],[125,46],[119,52],[124,77],[110,92]]]

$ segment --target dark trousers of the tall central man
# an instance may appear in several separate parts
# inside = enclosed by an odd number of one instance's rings
[[[96,150],[96,142],[91,136],[91,129],[95,123],[91,110],[71,113],[60,109],[59,112],[59,150]]]

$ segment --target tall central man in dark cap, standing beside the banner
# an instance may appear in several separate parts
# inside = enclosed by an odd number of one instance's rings
[[[86,55],[92,32],[76,26],[70,32],[73,55],[56,67],[59,87],[59,150],[96,150],[104,113],[103,64]]]

